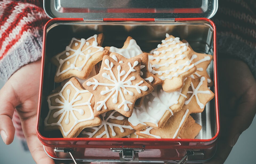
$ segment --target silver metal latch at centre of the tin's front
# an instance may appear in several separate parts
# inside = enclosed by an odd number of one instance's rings
[[[120,162],[139,162],[140,148],[110,148],[111,151],[119,153]]]

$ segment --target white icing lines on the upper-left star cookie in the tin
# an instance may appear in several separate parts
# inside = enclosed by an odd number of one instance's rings
[[[72,38],[71,40],[71,43],[69,44],[69,46],[66,47],[66,51],[63,51],[62,53],[58,54],[55,56],[55,58],[59,61],[59,67],[58,67],[58,70],[57,70],[57,73],[56,73],[56,76],[59,76],[67,71],[69,71],[70,69],[75,69],[75,70],[78,70],[78,71],[82,71],[83,67],[85,66],[85,64],[87,63],[87,61],[91,58],[91,56],[93,56],[94,54],[96,54],[97,52],[102,52],[104,50],[103,47],[99,47],[98,46],[98,43],[97,43],[97,36],[98,35],[94,35],[94,36],[91,36],[90,38],[88,39],[81,39],[81,40],[78,40],[76,38]],[[90,43],[88,42],[88,40],[91,40],[91,39],[94,39],[92,45],[90,45]],[[77,50],[74,50],[71,48],[71,45],[73,44],[73,42],[76,41],[76,42],[80,42],[80,46],[78,47]],[[82,51],[82,48],[84,47],[84,45],[87,45],[88,47],[86,47],[85,50]],[[75,44],[76,45],[76,44]],[[77,46],[78,46],[78,43],[77,43]],[[97,48],[98,50],[95,51],[95,52],[91,52],[91,50],[89,50],[90,48]],[[67,51],[73,51],[73,55],[70,55],[69,52]],[[87,51],[87,52],[86,52]],[[85,54],[86,53],[86,54]],[[66,57],[65,59],[61,59],[61,56],[63,54],[66,54]],[[83,61],[83,64],[77,66],[76,63],[77,63],[77,59],[81,59],[82,57],[84,58],[84,61]],[[61,67],[62,65],[69,59],[71,58],[75,58],[74,62],[72,64],[70,64],[70,67],[64,69],[61,71]],[[81,61],[81,60],[80,60]],[[69,65],[69,64],[68,64]]]

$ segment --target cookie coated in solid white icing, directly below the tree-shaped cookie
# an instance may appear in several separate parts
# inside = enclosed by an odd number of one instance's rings
[[[161,128],[173,113],[181,110],[191,78],[187,77],[184,87],[179,91],[165,92],[161,86],[154,88],[154,91],[145,96],[140,107],[134,107],[133,114],[128,118],[128,122],[135,130],[145,129],[147,126]]]

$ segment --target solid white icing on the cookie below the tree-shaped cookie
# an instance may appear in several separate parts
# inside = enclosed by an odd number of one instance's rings
[[[186,98],[186,95],[183,95],[181,91],[182,89],[167,93],[160,86],[155,87],[154,91],[145,97],[140,107],[134,107],[133,113],[128,118],[128,121],[133,126],[137,126],[138,124],[146,125],[145,122],[150,122],[158,126],[158,122],[166,110],[169,110],[173,114],[170,107],[178,104],[180,95]]]

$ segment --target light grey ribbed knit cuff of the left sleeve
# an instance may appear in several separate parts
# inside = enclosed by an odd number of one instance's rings
[[[35,62],[42,56],[42,30],[24,32],[19,43],[0,60],[0,79],[7,81],[23,65]]]

